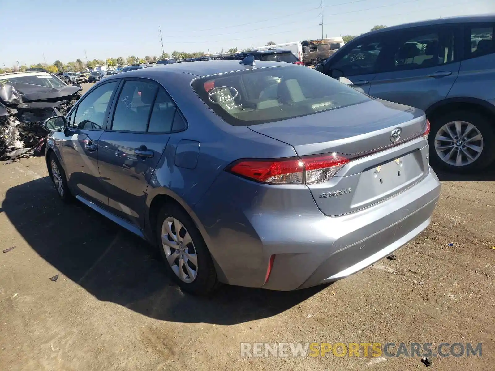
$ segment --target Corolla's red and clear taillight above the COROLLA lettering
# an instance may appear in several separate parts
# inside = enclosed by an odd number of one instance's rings
[[[328,181],[349,159],[337,153],[277,160],[240,160],[228,170],[261,183],[298,185]]]

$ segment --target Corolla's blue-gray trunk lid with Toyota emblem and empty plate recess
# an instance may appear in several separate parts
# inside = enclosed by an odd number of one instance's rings
[[[394,196],[429,169],[424,112],[379,99],[249,128],[292,145],[299,156],[337,152],[351,159],[327,182],[308,185],[329,216]]]

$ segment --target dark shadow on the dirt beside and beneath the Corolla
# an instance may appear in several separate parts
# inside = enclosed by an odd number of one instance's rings
[[[2,209],[54,267],[53,275],[158,320],[243,323],[279,314],[325,288],[279,292],[223,285],[210,298],[184,294],[167,278],[158,251],[77,201],[63,204],[49,177],[8,189]]]

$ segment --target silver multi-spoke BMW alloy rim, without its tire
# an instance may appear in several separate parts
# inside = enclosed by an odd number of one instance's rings
[[[449,165],[469,165],[483,152],[483,136],[478,128],[469,122],[450,121],[437,132],[435,150]]]

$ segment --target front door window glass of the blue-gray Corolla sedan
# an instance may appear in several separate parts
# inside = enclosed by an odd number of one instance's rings
[[[70,127],[73,129],[102,129],[110,98],[117,85],[117,81],[100,85],[81,98],[74,122],[71,123]]]

